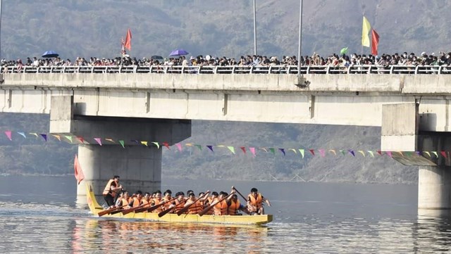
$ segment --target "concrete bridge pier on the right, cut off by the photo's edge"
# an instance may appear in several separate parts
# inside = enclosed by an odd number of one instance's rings
[[[393,153],[393,158],[404,165],[419,166],[419,210],[450,210],[451,158],[449,153],[445,158],[441,151],[451,150],[451,135],[421,132],[422,128],[431,129],[428,125],[433,123],[427,114],[419,114],[418,108],[416,103],[383,105],[381,149],[403,151]]]

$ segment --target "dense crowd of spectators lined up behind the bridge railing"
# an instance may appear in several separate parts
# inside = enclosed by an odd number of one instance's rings
[[[311,56],[302,56],[301,65],[330,65],[333,67],[348,67],[351,65],[451,65],[451,52],[439,52],[438,56],[435,53],[427,54],[422,52],[421,55],[416,56],[415,53],[404,52],[402,54],[394,53],[392,55],[383,53],[381,56],[372,55],[358,55],[357,53],[347,54],[333,54],[326,58],[320,56],[317,53],[313,53]],[[142,58],[137,59],[124,55],[123,57],[116,58],[96,58],[91,57],[89,59],[78,57],[75,61],[70,59],[64,60],[63,58],[27,58],[25,61],[18,59],[16,61],[1,60],[2,67],[5,66],[18,66],[20,69],[23,66],[149,66],[149,65],[238,65],[238,66],[261,66],[261,65],[297,65],[298,60],[296,56],[283,56],[278,58],[277,56],[241,56],[240,58],[227,58],[206,56],[176,56],[171,58]],[[4,69],[5,70],[5,69]]]

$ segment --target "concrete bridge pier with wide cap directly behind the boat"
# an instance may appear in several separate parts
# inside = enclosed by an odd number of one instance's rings
[[[50,132],[72,136],[73,143],[78,144],[78,160],[85,174],[77,187],[80,206],[87,204],[85,184],[90,184],[99,203],[104,203],[101,193],[116,174],[127,191],[161,189],[162,143],[173,145],[191,136],[191,120],[86,116],[77,112],[72,96],[51,98]],[[94,138],[101,138],[102,146]],[[152,142],[159,142],[160,147]]]

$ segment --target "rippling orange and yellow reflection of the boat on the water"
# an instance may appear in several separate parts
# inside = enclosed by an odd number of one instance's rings
[[[259,253],[268,227],[140,220],[75,220],[73,253],[205,253],[233,248]],[[233,246],[233,247],[232,247]],[[253,250],[259,250],[253,252]],[[249,250],[252,250],[249,252]]]

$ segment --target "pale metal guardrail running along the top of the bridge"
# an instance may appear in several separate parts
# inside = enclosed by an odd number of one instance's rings
[[[302,66],[301,74],[451,74],[451,66],[439,65],[328,65]],[[296,65],[269,66],[8,66],[3,73],[164,73],[164,74],[297,74]]]

